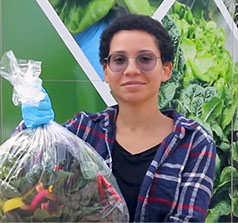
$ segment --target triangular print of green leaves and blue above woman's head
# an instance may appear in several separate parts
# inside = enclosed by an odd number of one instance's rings
[[[81,50],[103,80],[99,63],[99,38],[111,21],[124,13],[152,15],[160,1],[144,0],[49,0]]]

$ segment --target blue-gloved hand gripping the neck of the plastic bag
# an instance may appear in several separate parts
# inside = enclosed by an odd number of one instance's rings
[[[44,89],[42,91],[45,93],[45,98],[40,101],[38,106],[27,104],[21,106],[22,118],[27,128],[36,128],[54,119],[50,98]]]

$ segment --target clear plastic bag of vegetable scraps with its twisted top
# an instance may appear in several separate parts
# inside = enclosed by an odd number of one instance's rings
[[[16,60],[11,51],[3,56],[0,76],[14,86],[15,104],[37,104],[44,98],[39,69],[39,62]],[[28,90],[22,91],[17,85],[24,85],[25,79]],[[32,101],[32,92],[37,100]],[[128,219],[125,201],[102,157],[56,122],[25,129],[0,146],[0,222]]]

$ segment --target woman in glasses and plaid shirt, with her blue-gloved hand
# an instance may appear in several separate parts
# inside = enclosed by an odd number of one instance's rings
[[[112,169],[131,222],[203,222],[207,215],[215,144],[198,123],[158,109],[172,59],[171,40],[158,21],[143,15],[118,18],[100,42],[105,81],[118,105],[96,114],[80,112],[64,124]],[[34,114],[30,109],[22,106],[29,128],[53,119],[47,94]]]

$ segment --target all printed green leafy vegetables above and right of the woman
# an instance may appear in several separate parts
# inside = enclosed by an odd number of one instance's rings
[[[74,35],[110,13],[153,16],[162,0],[50,2]],[[238,2],[224,3],[237,24]],[[211,0],[177,1],[163,18],[175,58],[172,78],[161,87],[159,107],[178,110],[213,136],[216,177],[206,221],[238,222],[238,64],[225,48],[226,33],[212,19],[212,7]]]

